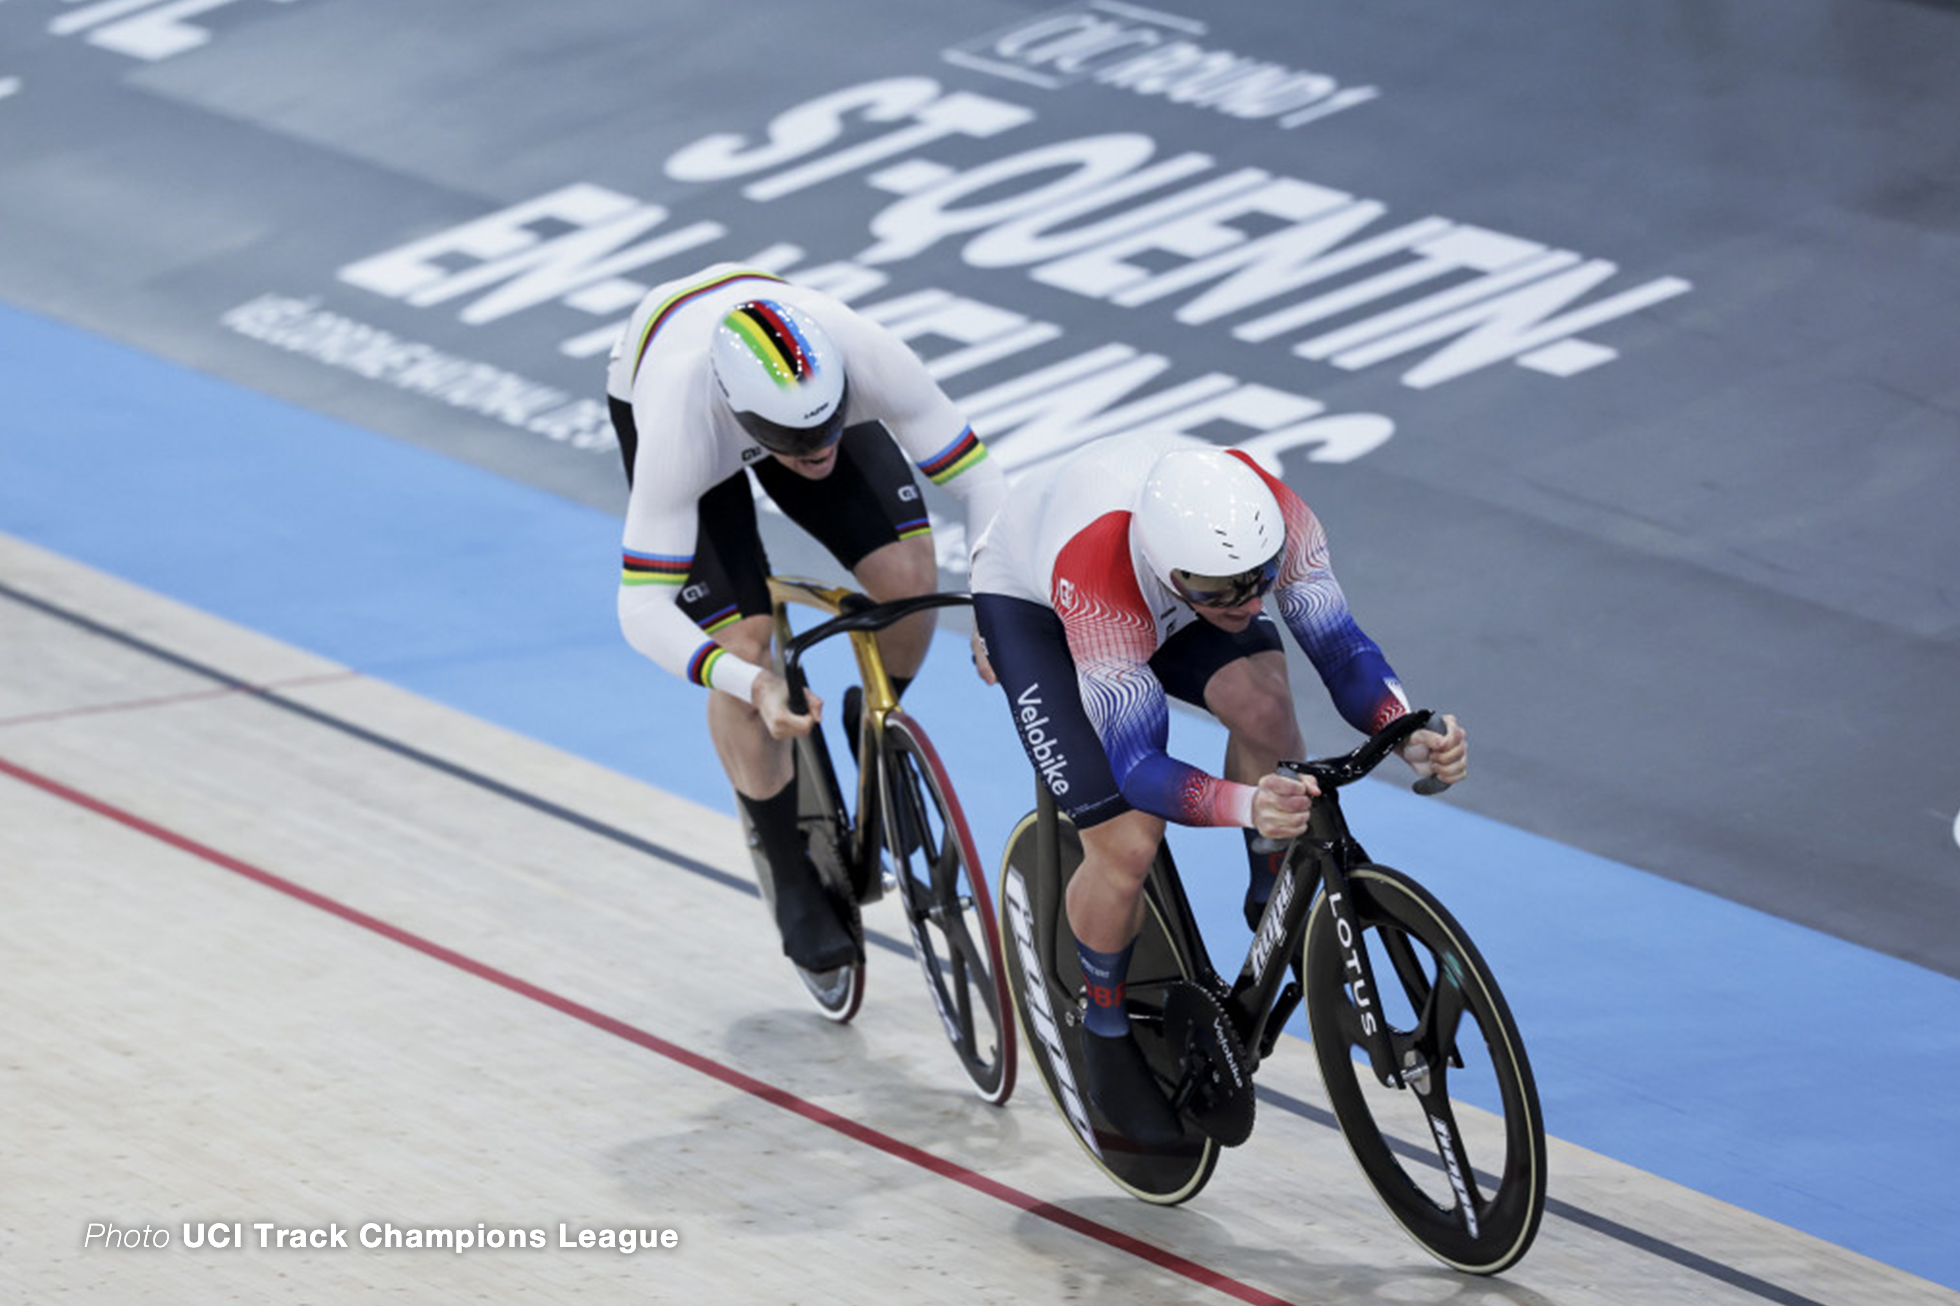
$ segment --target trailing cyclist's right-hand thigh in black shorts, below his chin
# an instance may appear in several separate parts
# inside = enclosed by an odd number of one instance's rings
[[[755,478],[782,514],[809,531],[845,569],[900,539],[931,539],[925,498],[911,463],[878,422],[860,422],[837,441],[837,465],[811,480],[774,459],[755,465]]]

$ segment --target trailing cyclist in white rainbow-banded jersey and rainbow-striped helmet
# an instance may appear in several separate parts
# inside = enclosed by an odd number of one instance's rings
[[[751,475],[876,600],[937,588],[911,467],[966,508],[978,539],[1004,480],[925,365],[829,294],[731,263],[655,286],[606,377],[631,496],[619,626],[649,659],[710,690],[708,728],[770,863],[784,953],[827,971],[853,959],[796,826],[790,712],[768,669],[768,557]],[[896,443],[894,443],[896,441]],[[880,635],[894,684],[931,641],[923,612]]]

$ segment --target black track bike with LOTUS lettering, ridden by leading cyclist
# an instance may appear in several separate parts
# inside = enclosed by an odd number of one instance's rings
[[[1341,786],[1429,720],[1403,716],[1347,757],[1284,763],[1317,777],[1321,796],[1233,982],[1211,969],[1170,849],[1158,849],[1127,1004],[1184,1124],[1164,1149],[1117,1133],[1082,1088],[1086,994],[1062,908],[1082,843],[1037,784],[1002,865],[1007,982],[1049,1096],[1131,1194],[1174,1204],[1205,1186],[1219,1149],[1252,1133],[1252,1073],[1305,1000],[1341,1131],[1401,1228],[1472,1275],[1503,1271],[1531,1247],[1544,1216],[1544,1118],[1511,1008],[1456,918],[1407,875],[1368,861],[1341,814]]]

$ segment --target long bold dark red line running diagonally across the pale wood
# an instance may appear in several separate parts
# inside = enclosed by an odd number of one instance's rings
[[[123,808],[108,804],[76,788],[69,788],[61,780],[53,780],[35,771],[27,771],[25,767],[18,767],[6,761],[4,757],[0,757],[0,775],[10,775],[16,780],[22,780],[24,784],[31,784],[33,788],[53,794],[55,798],[71,802],[88,812],[94,812],[96,816],[108,818],[120,826],[127,826],[129,829],[149,835],[159,843],[167,843],[178,851],[190,853],[192,857],[200,857],[212,863],[214,867],[223,867],[225,871],[243,875],[247,880],[265,884],[267,888],[282,892],[288,898],[296,898],[310,908],[318,908],[321,912],[327,912],[329,916],[339,916],[341,920],[353,926],[361,926],[363,929],[368,929],[372,933],[378,933],[384,939],[390,939],[404,947],[412,947],[417,953],[423,953],[425,957],[433,957],[435,961],[451,965],[466,975],[474,975],[476,979],[490,980],[498,988],[508,988],[514,994],[531,998],[533,1002],[549,1006],[551,1010],[570,1016],[572,1020],[582,1020],[594,1030],[604,1030],[606,1033],[621,1037],[627,1043],[637,1043],[647,1051],[661,1053],[668,1061],[676,1061],[688,1067],[690,1071],[698,1071],[708,1079],[715,1079],[727,1084],[729,1088],[739,1088],[741,1092],[770,1102],[772,1106],[780,1106],[782,1110],[802,1116],[804,1120],[819,1124],[827,1130],[835,1130],[837,1133],[843,1133],[849,1139],[864,1143],[866,1147],[874,1147],[890,1157],[898,1157],[900,1161],[907,1161],[923,1171],[931,1171],[941,1179],[951,1179],[953,1182],[972,1188],[974,1192],[984,1192],[990,1198],[1005,1202],[1007,1206],[1023,1210],[1031,1216],[1039,1216],[1041,1220],[1056,1224],[1064,1230],[1082,1233],[1084,1237],[1096,1239],[1098,1243],[1115,1247],[1117,1251],[1125,1251],[1137,1257],[1139,1261],[1149,1261],[1151,1265],[1166,1269],[1172,1275],[1180,1275],[1184,1279],[1190,1279],[1192,1282],[1215,1288],[1227,1296],[1239,1298],[1241,1302],[1252,1302],[1256,1306],[1290,1306],[1286,1298],[1272,1296],[1270,1292],[1254,1288],[1247,1282],[1239,1282],[1229,1275],[1223,1275],[1205,1265],[1198,1265],[1196,1261],[1188,1261],[1172,1251],[1164,1251],[1162,1247],[1152,1247],[1141,1237],[1133,1237],[1131,1233],[1123,1233],[1121,1230],[1111,1230],[1105,1224],[1098,1224],[1096,1220],[1078,1216],[1076,1212],[1054,1206],[1053,1202],[1043,1202],[1041,1198],[1029,1192],[1021,1192],[1019,1188],[1004,1184],[998,1179],[988,1179],[986,1175],[966,1169],[956,1161],[935,1157],[933,1153],[921,1147],[913,1147],[911,1143],[896,1139],[890,1133],[872,1130],[870,1126],[851,1120],[849,1116],[839,1116],[837,1112],[817,1106],[815,1102],[806,1102],[804,1098],[796,1096],[786,1088],[778,1088],[776,1084],[755,1079],[753,1075],[745,1075],[743,1071],[713,1061],[711,1057],[688,1051],[686,1047],[670,1043],[657,1033],[647,1033],[645,1030],[639,1030],[635,1026],[625,1024],[623,1020],[617,1020],[590,1006],[584,1006],[582,1002],[574,1002],[566,996],[555,994],[549,988],[539,988],[529,980],[517,979],[508,971],[498,971],[496,967],[476,961],[474,957],[465,957],[463,953],[451,947],[443,947],[433,939],[425,939],[419,933],[412,933],[408,929],[402,929],[400,926],[390,926],[378,916],[368,916],[367,912],[347,906],[345,902],[327,898],[325,894],[318,894],[312,888],[306,888],[304,884],[296,884],[280,875],[272,875],[270,871],[253,867],[251,863],[239,861],[237,857],[220,853],[218,849],[206,843],[198,843],[188,835],[180,835],[172,829],[157,826],[155,822],[147,822],[133,812],[125,812]]]

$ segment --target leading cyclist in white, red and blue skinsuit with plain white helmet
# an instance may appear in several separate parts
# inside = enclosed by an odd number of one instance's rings
[[[1111,437],[1013,484],[974,555],[974,620],[1021,747],[1082,831],[1068,922],[1090,1006],[1090,1096],[1123,1133],[1162,1145],[1178,1122],[1129,1035],[1123,979],[1143,880],[1164,822],[1245,831],[1247,918],[1305,829],[1311,780],[1278,628],[1311,659],[1341,716],[1376,731],[1409,710],[1327,565],[1319,520],[1243,453],[1178,435]],[[1170,757],[1168,696],[1229,729],[1225,775]],[[1417,775],[1460,780],[1466,737],[1417,731]]]

